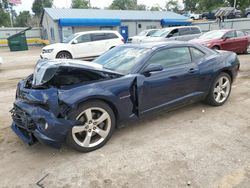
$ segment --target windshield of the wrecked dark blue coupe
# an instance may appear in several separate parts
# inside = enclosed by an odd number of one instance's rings
[[[150,49],[145,48],[120,46],[98,57],[94,63],[101,64],[103,68],[118,73],[128,74],[149,51]]]

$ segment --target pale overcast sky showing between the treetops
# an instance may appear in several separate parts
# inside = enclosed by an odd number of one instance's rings
[[[23,10],[30,10],[31,11],[31,6],[34,0],[22,0],[22,4],[15,6],[14,9],[17,12],[23,11]],[[182,2],[182,0],[179,0]],[[95,7],[108,7],[111,3],[112,0],[91,0],[91,6]],[[148,7],[154,6],[154,5],[159,5],[164,7],[166,4],[165,0],[138,0],[138,4],[145,4]],[[71,0],[54,0],[54,7],[56,8],[69,8],[71,5]]]

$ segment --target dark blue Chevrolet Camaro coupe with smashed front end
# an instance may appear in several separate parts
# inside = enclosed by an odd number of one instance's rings
[[[18,84],[12,129],[30,145],[93,151],[153,111],[223,105],[239,66],[235,53],[187,42],[123,45],[93,62],[41,60]]]

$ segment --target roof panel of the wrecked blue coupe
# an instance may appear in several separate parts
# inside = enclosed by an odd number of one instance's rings
[[[164,42],[147,42],[147,43],[135,43],[135,44],[124,44],[126,47],[134,48],[146,48],[146,49],[157,49],[161,47],[174,47],[174,46],[194,46],[193,44],[185,41],[164,41]]]

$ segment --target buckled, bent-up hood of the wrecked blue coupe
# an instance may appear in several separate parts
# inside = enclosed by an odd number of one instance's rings
[[[119,76],[122,74],[93,62],[68,59],[39,60],[34,70],[32,85],[70,85]]]

